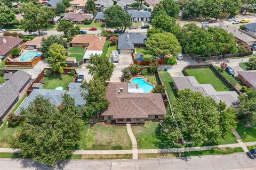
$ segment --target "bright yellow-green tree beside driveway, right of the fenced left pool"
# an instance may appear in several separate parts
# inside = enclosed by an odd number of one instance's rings
[[[54,43],[50,46],[46,62],[49,63],[52,71],[64,72],[63,67],[67,66],[67,50],[60,44]]]

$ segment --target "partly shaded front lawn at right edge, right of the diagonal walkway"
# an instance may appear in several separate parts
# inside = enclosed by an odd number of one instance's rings
[[[243,142],[255,142],[256,141],[256,129],[245,127],[243,121],[239,121],[237,123],[236,131],[242,138]]]

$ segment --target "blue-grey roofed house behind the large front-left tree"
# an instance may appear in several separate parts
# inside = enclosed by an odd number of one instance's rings
[[[67,93],[70,97],[75,99],[75,104],[78,107],[83,107],[86,104],[86,100],[81,96],[81,83],[69,83],[66,90],[51,90],[51,89],[36,89],[34,88],[27,99],[21,104],[16,115],[20,114],[21,108],[27,108],[31,101],[39,95],[44,98],[50,99],[51,103],[55,106],[59,106],[62,103],[62,96]]]

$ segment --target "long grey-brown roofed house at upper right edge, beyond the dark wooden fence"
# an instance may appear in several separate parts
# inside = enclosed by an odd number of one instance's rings
[[[237,28],[231,28],[226,26],[221,28],[228,31],[229,33],[232,33],[236,37],[236,39],[238,39],[239,43],[253,45],[256,42],[256,39],[252,38],[249,35],[246,35],[246,33],[239,31]]]

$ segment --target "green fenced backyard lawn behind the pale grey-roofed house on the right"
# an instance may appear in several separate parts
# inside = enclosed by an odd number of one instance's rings
[[[226,84],[210,68],[187,69],[187,73],[194,76],[200,84],[212,84],[216,91],[229,91]]]

